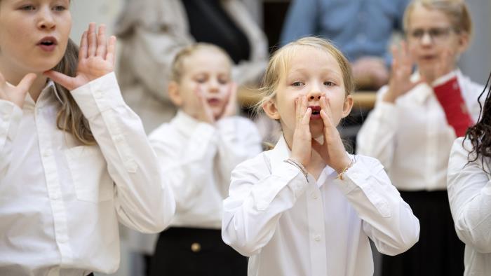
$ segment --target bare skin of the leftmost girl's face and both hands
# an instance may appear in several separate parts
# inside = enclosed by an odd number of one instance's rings
[[[82,36],[76,77],[51,71],[67,47],[72,27],[68,8],[68,0],[0,1],[0,99],[22,108],[27,92],[36,100],[47,78],[74,90],[114,71],[116,38],[106,39],[105,26],[97,33],[95,23]],[[57,41],[51,51],[39,47],[46,36]]]

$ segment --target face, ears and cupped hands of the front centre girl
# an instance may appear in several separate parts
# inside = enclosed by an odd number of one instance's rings
[[[317,179],[325,165],[339,173],[350,163],[336,126],[351,111],[353,99],[346,95],[335,58],[323,50],[303,47],[281,76],[276,97],[263,109],[269,118],[280,120],[291,158]],[[315,106],[320,106],[320,116],[312,114]],[[315,138],[323,138],[323,144]]]

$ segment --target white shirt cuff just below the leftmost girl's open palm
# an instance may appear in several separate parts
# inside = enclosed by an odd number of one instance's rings
[[[72,96],[88,119],[104,111],[126,105],[114,72],[72,90]]]

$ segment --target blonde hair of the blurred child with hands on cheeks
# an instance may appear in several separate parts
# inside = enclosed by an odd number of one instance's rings
[[[184,74],[184,60],[200,50],[217,51],[218,53],[221,53],[222,55],[227,57],[230,65],[232,64],[229,54],[225,52],[225,50],[223,50],[222,48],[210,43],[194,43],[190,46],[182,48],[177,53],[177,55],[175,55],[173,63],[170,67],[170,81],[175,81],[177,83],[180,81],[182,75]]]

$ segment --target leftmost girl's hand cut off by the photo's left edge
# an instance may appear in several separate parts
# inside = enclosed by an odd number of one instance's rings
[[[4,75],[0,74],[0,99],[13,102],[13,104],[16,104],[22,109],[25,95],[29,92],[29,88],[31,88],[36,77],[36,74],[29,73],[22,78],[17,86],[11,86],[7,84]]]

